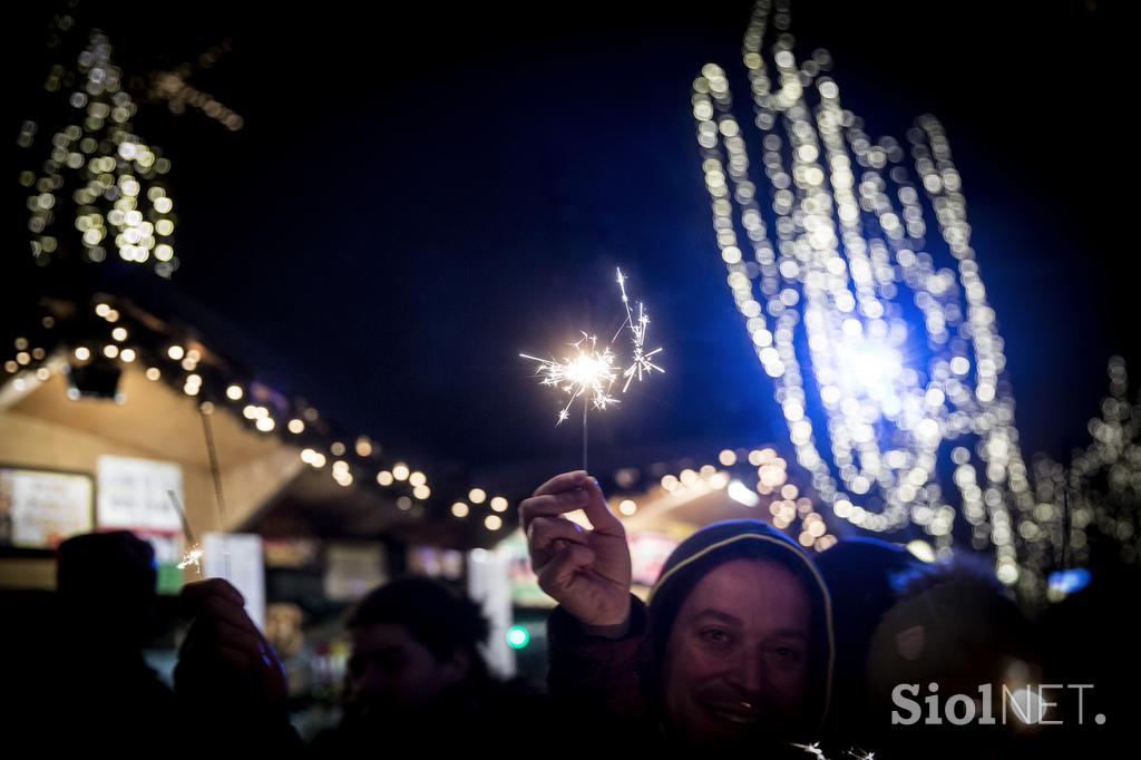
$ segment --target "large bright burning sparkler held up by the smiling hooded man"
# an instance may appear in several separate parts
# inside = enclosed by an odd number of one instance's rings
[[[574,403],[582,398],[582,468],[586,469],[586,420],[588,412],[590,407],[593,406],[597,410],[605,410],[609,406],[618,404],[618,399],[610,395],[610,389],[614,386],[615,380],[618,378],[618,369],[615,367],[614,363],[616,356],[612,346],[614,341],[618,339],[622,330],[625,328],[630,329],[631,342],[633,343],[633,359],[630,366],[622,371],[622,377],[626,379],[625,385],[622,387],[622,393],[626,393],[630,389],[630,383],[633,382],[634,378],[641,382],[644,375],[648,375],[654,371],[665,372],[661,366],[654,363],[653,356],[658,354],[662,349],[655,348],[652,351],[645,350],[646,341],[646,328],[649,325],[649,316],[646,314],[646,308],[639,301],[638,304],[638,320],[634,321],[633,309],[630,307],[630,299],[626,296],[626,278],[622,274],[622,269],[618,273],[618,289],[622,292],[622,304],[626,309],[625,321],[618,325],[617,331],[614,333],[614,338],[607,343],[601,350],[598,348],[598,339],[586,332],[582,333],[576,342],[570,343],[575,349],[575,354],[572,356],[566,356],[563,359],[557,359],[553,356],[551,358],[540,358],[537,356],[532,356],[529,354],[519,354],[525,359],[532,362],[539,362],[539,367],[535,370],[535,374],[541,377],[540,385],[551,386],[552,388],[558,388],[559,390],[569,394],[570,398],[567,401],[566,405],[559,410],[558,421],[556,425],[561,425],[570,418],[570,407]]]

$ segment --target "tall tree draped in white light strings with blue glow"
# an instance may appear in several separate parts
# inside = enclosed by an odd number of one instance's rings
[[[872,140],[824,75],[831,56],[798,60],[788,2],[775,5],[755,5],[743,48],[768,208],[715,64],[694,82],[693,113],[728,285],[796,460],[864,529],[914,522],[946,552],[961,514],[974,548],[994,545],[998,577],[1033,596],[1043,556],[1017,556],[1015,532],[1059,535],[1035,517],[947,136],[926,115],[908,145]],[[936,475],[945,442],[958,444],[961,508]]]

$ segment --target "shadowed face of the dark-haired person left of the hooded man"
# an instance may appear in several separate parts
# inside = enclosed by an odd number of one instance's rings
[[[349,633],[348,703],[361,711],[424,710],[467,672],[462,655],[437,660],[403,625],[359,625]]]

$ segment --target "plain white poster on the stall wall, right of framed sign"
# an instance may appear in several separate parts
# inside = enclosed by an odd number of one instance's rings
[[[185,509],[183,468],[173,462],[128,456],[98,460],[98,510],[102,528],[178,533],[183,520],[170,492]]]

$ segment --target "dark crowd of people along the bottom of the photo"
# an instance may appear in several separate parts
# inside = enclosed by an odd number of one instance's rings
[[[566,518],[575,510],[591,527]],[[84,535],[59,548],[59,604],[42,628],[71,642],[49,633],[44,657],[13,665],[9,738],[118,754],[185,743],[314,757],[518,747],[882,760],[1074,757],[1131,735],[1133,579],[1095,579],[1031,624],[984,564],[928,564],[871,539],[810,555],[741,519],[681,542],[642,601],[623,524],[589,474],[551,478],[519,517],[558,603],[547,689],[492,674],[475,601],[400,577],[347,616],[342,719],[305,743],[285,671],[241,593],[219,579],[185,587],[170,689],[140,655],[149,545]]]

